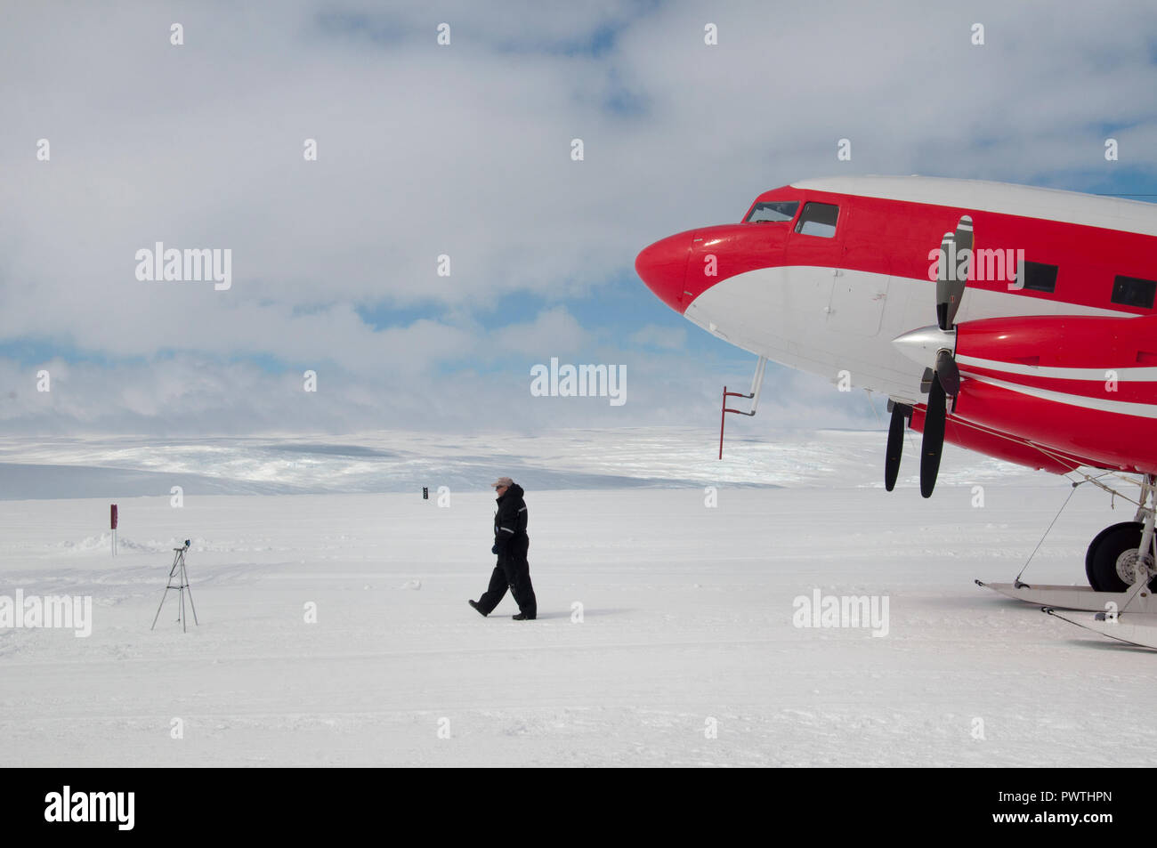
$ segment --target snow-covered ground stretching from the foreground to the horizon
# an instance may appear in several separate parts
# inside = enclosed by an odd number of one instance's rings
[[[1157,694],[1157,654],[972,583],[1017,574],[1067,482],[950,450],[924,501],[909,445],[887,494],[883,442],[737,437],[723,463],[692,430],[2,442],[0,595],[88,595],[94,621],[0,629],[0,757],[1149,765],[1157,730],[1121,716]],[[500,473],[528,489],[533,622],[465,603]],[[1089,540],[1129,518],[1079,488],[1025,578],[1083,583]],[[170,597],[150,632],[185,538],[200,625]],[[816,590],[886,598],[886,635],[795,626]]]

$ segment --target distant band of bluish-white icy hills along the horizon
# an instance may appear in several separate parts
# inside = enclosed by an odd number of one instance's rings
[[[883,485],[886,435],[816,430],[718,436],[692,428],[570,429],[539,435],[417,432],[348,436],[58,437],[0,440],[0,499],[132,497],[184,494],[485,489],[508,474],[529,491],[707,486]],[[918,473],[909,434],[901,485]],[[1039,472],[948,445],[945,482],[981,482]]]

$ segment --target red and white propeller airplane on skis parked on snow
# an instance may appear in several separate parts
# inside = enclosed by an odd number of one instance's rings
[[[906,422],[923,434],[926,497],[944,441],[1114,492],[1105,479],[1134,485],[1122,494],[1135,521],[1089,547],[1090,588],[993,588],[1107,609],[1095,628],[1114,637],[1137,636],[1117,612],[1157,614],[1157,205],[965,179],[815,179],[760,194],[740,223],[651,244],[635,270],[671,309],[760,357],[743,396],[754,403],[767,360],[886,394],[889,491]]]

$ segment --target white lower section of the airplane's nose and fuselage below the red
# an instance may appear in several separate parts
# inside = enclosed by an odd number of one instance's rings
[[[923,403],[923,367],[897,351],[892,339],[936,322],[936,283],[930,280],[843,268],[837,275],[815,266],[758,268],[715,283],[684,315],[774,362],[833,383],[848,371],[855,388]],[[957,323],[1029,315],[1133,314],[970,288]]]

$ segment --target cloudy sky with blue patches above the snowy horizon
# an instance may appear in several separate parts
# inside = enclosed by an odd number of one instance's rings
[[[835,174],[1157,196],[1157,12],[1143,2],[1059,15],[294,0],[275,16],[163,2],[6,16],[0,419],[13,432],[709,426],[752,357],[642,286],[633,260],[651,241]],[[706,23],[718,45],[703,44]],[[1110,135],[1118,162],[1104,160]],[[134,251],[156,241],[230,249],[233,288],[134,279]],[[443,253],[449,278],[435,273]],[[531,398],[530,367],[552,356],[625,364],[628,403]],[[768,381],[761,428],[874,422],[863,398],[817,378],[774,368]]]

